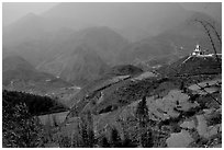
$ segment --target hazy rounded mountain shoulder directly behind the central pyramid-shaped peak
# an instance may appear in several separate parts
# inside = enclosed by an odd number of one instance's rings
[[[110,27],[89,27],[74,34],[65,45],[86,45],[96,51],[107,64],[119,64],[117,56],[123,47],[128,45],[127,39],[111,30]],[[74,44],[74,48],[75,45]]]

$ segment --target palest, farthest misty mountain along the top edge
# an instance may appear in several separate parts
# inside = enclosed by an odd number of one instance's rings
[[[69,24],[76,28],[109,26],[122,31],[123,35],[130,39],[136,39],[137,36],[141,36],[139,34],[145,32],[152,35],[163,32],[165,26],[161,26],[161,23],[164,20],[181,16],[183,13],[184,9],[178,3],[90,2],[60,3],[45,12],[43,16],[52,19],[53,22],[57,20],[58,23],[59,21],[61,26]]]

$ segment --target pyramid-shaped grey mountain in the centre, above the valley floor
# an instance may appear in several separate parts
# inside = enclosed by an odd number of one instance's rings
[[[98,54],[85,45],[79,45],[74,51],[58,55],[38,67],[38,70],[59,76],[76,84],[97,79],[107,69],[108,65]]]

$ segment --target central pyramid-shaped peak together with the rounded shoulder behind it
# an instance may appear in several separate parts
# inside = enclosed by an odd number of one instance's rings
[[[109,27],[87,28],[54,46],[47,51],[53,57],[36,68],[66,81],[83,84],[100,77],[109,66],[120,64],[117,56],[127,44],[126,39]]]

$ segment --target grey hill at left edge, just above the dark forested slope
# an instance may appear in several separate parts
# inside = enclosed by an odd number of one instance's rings
[[[71,86],[61,79],[37,71],[20,56],[5,57],[2,68],[2,82],[8,90],[44,94],[54,89]]]

